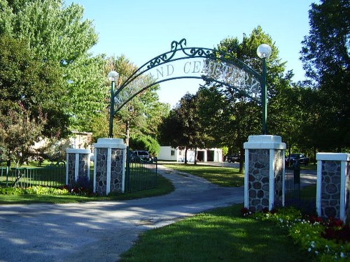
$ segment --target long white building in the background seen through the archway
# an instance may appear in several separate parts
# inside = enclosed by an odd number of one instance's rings
[[[183,162],[185,161],[185,152],[186,150],[180,150],[179,147],[161,146],[158,160]],[[197,160],[201,162],[221,162],[223,161],[223,152],[220,148],[197,149]],[[195,150],[187,150],[187,161],[195,161]]]

